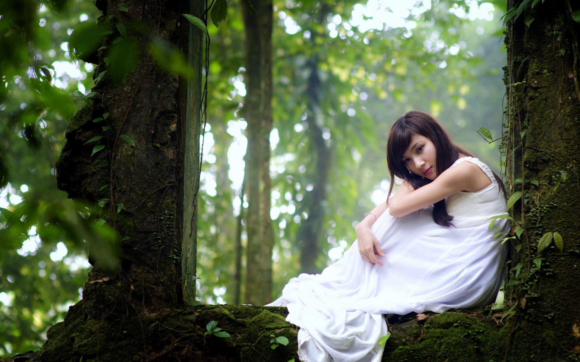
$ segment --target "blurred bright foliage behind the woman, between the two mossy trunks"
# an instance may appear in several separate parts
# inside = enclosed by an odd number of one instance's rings
[[[499,170],[495,145],[476,133],[485,126],[499,134],[502,125],[505,50],[498,19],[506,3],[493,3],[493,20],[469,20],[469,7],[481,4],[476,1],[442,1],[410,16],[416,23],[411,32],[387,27],[362,32],[347,21],[354,2],[274,2],[276,130],[271,141],[279,142],[271,160],[272,217],[278,236],[273,298],[300,270],[295,235],[307,217],[302,203],[316,173],[305,118],[309,60],[316,59],[322,79],[317,122],[333,155],[320,240],[324,253],[318,258],[318,266],[324,268],[355,239],[353,225],[375,206],[371,197],[384,200],[389,185],[385,140],[391,124],[405,112],[432,113],[459,144]],[[373,4],[377,3],[368,6]],[[482,9],[491,9],[489,5]],[[228,20],[219,29],[209,29],[211,128],[206,129],[201,192],[205,203],[200,203],[198,224],[198,298],[208,303],[231,302],[235,290],[232,212],[237,214],[242,204],[241,174],[236,171],[242,167],[236,163],[243,162],[235,154],[245,142],[240,133],[245,122],[238,115],[245,95],[243,24],[235,6],[230,4]]]

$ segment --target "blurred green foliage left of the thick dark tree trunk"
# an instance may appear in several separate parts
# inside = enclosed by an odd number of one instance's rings
[[[96,8],[18,1],[0,3],[0,14],[2,355],[38,349],[80,297],[90,266],[84,240],[107,242],[111,233],[56,188],[54,169],[67,122],[81,105],[70,93],[92,81],[92,65],[73,63],[67,41],[81,20],[96,20]]]

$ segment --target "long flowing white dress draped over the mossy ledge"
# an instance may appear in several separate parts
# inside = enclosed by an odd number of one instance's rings
[[[269,304],[286,306],[289,323],[300,327],[298,356],[303,362],[380,361],[387,334],[383,314],[484,306],[494,301],[503,279],[507,245],[498,232],[509,230],[503,192],[490,168],[477,164],[492,183],[477,192],[458,192],[445,200],[454,226],[435,224],[432,207],[404,217],[386,210],[371,231],[385,253],[384,266],[372,265],[357,241],[342,259],[317,275],[300,274]]]

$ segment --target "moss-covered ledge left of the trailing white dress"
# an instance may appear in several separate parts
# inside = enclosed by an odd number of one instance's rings
[[[202,305],[155,315],[129,310],[103,320],[86,317],[83,309],[82,302],[71,307],[38,352],[0,361],[298,361],[297,329],[285,321],[285,308]],[[230,337],[205,335],[210,321]],[[271,335],[287,337],[288,345],[272,349]]]

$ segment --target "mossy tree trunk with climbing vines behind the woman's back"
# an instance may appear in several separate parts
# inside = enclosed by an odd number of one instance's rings
[[[508,359],[580,353],[578,10],[569,0],[528,5],[507,27],[506,185],[523,193],[512,214],[524,228],[512,242],[521,272],[507,288],[518,317]],[[553,241],[541,251],[544,235]]]

